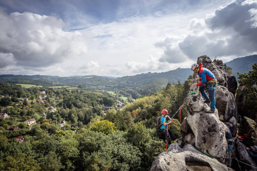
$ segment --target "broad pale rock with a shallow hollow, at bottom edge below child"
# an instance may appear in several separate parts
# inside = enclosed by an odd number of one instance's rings
[[[229,168],[217,159],[211,158],[197,151],[192,144],[180,148],[178,144],[171,144],[167,152],[163,152],[153,161],[152,171],[177,170],[210,170],[228,171]]]

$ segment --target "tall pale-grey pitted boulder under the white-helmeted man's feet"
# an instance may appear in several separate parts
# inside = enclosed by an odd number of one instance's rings
[[[195,80],[192,81],[194,82]],[[189,93],[196,91],[199,91],[199,87],[191,84]],[[195,136],[196,147],[225,162],[223,157],[227,156],[227,128],[219,121],[218,110],[214,114],[208,114],[206,111],[209,109],[198,93],[191,94],[187,97],[186,120]]]

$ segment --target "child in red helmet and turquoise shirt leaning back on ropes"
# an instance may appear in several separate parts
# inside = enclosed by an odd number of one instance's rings
[[[164,132],[164,135],[167,139],[167,142],[168,144],[170,145],[171,144],[171,139],[174,141],[176,140],[176,142],[178,141],[178,139],[171,133],[171,131],[168,129],[168,125],[171,124],[172,122],[168,122],[166,123],[166,117],[168,117],[169,119],[171,119],[169,116],[168,116],[168,111],[166,109],[163,109],[162,110],[162,117],[161,118],[161,123],[162,123],[162,126],[161,126],[161,130]],[[170,139],[171,137],[171,139]]]

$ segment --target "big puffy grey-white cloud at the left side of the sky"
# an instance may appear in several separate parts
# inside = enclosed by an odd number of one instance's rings
[[[0,52],[12,53],[19,66],[46,67],[87,53],[80,32],[65,32],[61,19],[0,10]]]

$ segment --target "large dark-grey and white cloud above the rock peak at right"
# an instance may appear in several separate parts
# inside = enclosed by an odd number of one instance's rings
[[[227,59],[228,56],[256,53],[256,8],[256,0],[237,0],[219,7],[205,19],[192,19],[188,34],[180,36],[177,41],[163,41],[166,48],[160,61],[178,62],[173,54],[181,59],[196,59],[201,55]]]

